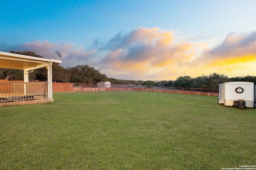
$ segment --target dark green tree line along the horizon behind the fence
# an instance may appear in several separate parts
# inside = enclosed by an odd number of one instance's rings
[[[9,53],[16,53],[21,55],[28,55],[33,57],[40,57],[34,51],[10,51]],[[6,80],[23,80],[24,72],[23,70],[0,68],[0,79]],[[47,70],[46,68],[39,68],[34,70],[34,72],[29,73],[30,81],[46,81],[47,80]],[[101,74],[98,70],[93,67],[85,65],[77,65],[75,67],[64,68],[59,64],[52,66],[52,80],[53,82],[71,82],[71,83],[87,83],[96,84],[100,81],[109,81],[111,84],[134,84],[134,85],[145,85],[145,86],[164,86],[164,87],[183,87],[183,88],[213,88],[218,89],[218,85],[224,82],[231,81],[245,81],[253,82],[256,84],[255,76],[242,76],[242,77],[232,77],[224,74],[212,73],[208,76],[202,75],[196,78],[190,76],[180,76],[176,80],[162,80],[155,82],[153,80],[118,80],[115,78],[108,78],[105,74]]]

